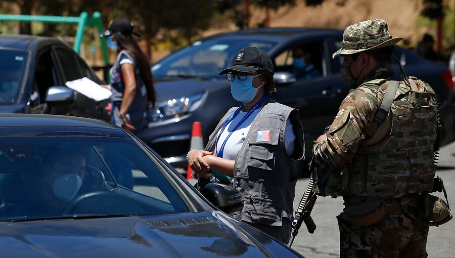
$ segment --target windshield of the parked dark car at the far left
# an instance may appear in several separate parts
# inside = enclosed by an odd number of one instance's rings
[[[17,99],[27,60],[23,51],[0,50],[0,104]]]

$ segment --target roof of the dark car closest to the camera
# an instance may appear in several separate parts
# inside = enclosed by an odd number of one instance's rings
[[[129,137],[120,127],[100,119],[42,114],[0,114],[0,136],[99,135]]]

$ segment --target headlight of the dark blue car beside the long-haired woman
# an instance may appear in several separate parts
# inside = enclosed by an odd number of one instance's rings
[[[206,95],[205,93],[199,93],[157,103],[150,111],[152,121],[179,118],[194,112],[204,103]]]

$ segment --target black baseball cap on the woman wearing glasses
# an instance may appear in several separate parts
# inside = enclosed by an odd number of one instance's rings
[[[267,71],[274,73],[274,64],[265,51],[258,48],[245,47],[234,56],[231,61],[231,67],[222,70],[219,74],[226,74],[231,71]]]

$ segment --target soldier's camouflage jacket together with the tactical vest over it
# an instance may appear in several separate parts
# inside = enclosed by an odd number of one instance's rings
[[[313,147],[318,163],[343,167],[347,172],[339,172],[345,175],[341,181],[332,177],[324,189],[326,193],[396,198],[431,191],[436,102],[430,85],[412,79],[414,90],[400,82],[388,119],[372,138],[367,137],[367,132],[371,133],[368,127],[384,99],[387,80],[376,78],[363,83],[345,98],[327,140]],[[324,182],[319,185],[323,187]]]

